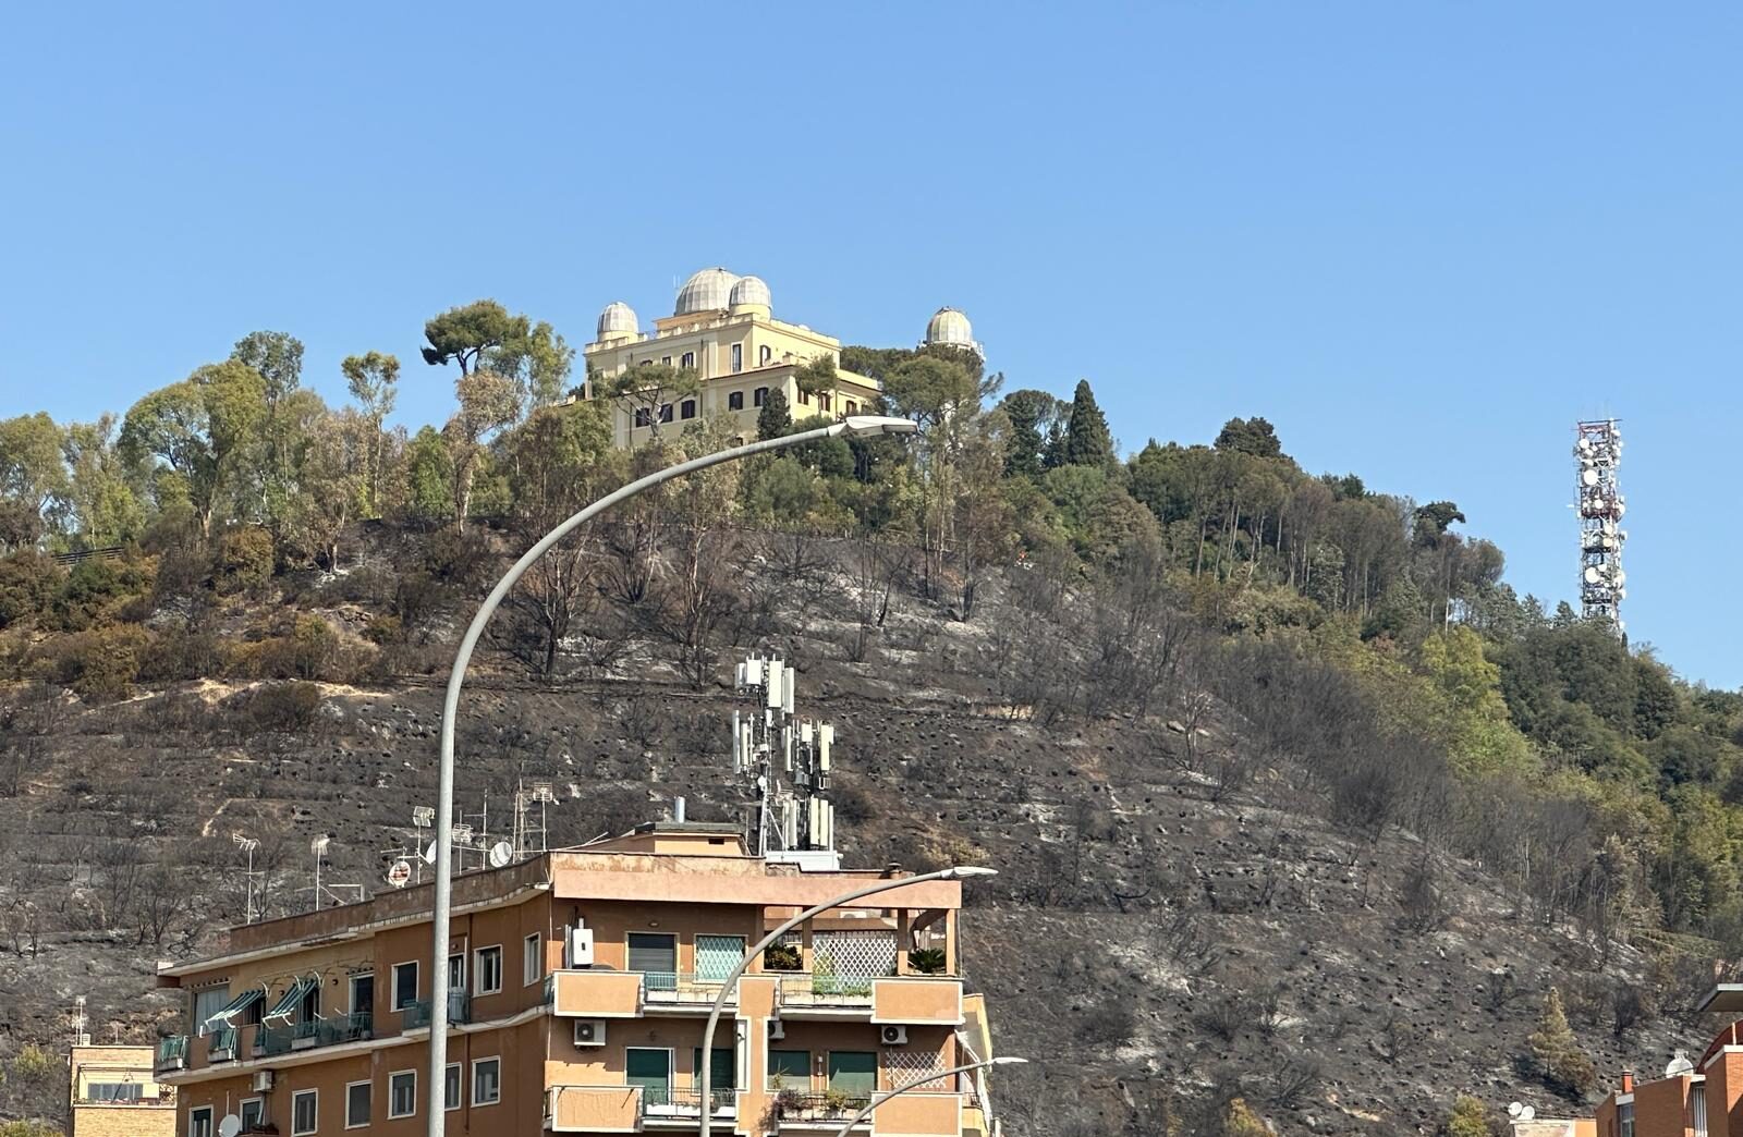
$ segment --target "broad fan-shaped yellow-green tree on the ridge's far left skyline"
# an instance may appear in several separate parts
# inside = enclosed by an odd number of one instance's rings
[[[223,494],[246,474],[239,466],[254,439],[265,387],[253,368],[234,359],[216,363],[145,396],[122,422],[122,453],[141,466],[162,462],[178,474],[206,535]]]

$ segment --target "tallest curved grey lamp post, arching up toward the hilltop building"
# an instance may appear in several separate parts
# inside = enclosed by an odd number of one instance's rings
[[[842,422],[833,422],[826,427],[817,427],[814,431],[800,431],[798,434],[784,434],[781,438],[767,438],[762,441],[748,443],[744,446],[732,446],[730,450],[720,450],[716,453],[706,453],[699,459],[690,459],[688,462],[680,462],[676,466],[668,466],[666,469],[654,471],[647,478],[631,481],[621,487],[600,500],[593,502],[575,516],[568,518],[549,534],[546,534],[539,544],[526,549],[514,567],[502,574],[497,586],[490,589],[485,596],[485,603],[479,605],[478,616],[472,617],[472,624],[465,630],[465,637],[460,640],[460,649],[453,657],[453,670],[448,671],[448,694],[441,706],[441,767],[436,780],[436,910],[431,923],[431,1060],[429,1060],[429,1086],[425,1090],[424,1100],[429,1111],[429,1128],[425,1130],[429,1137],[443,1137],[446,1132],[446,1066],[448,1066],[448,933],[450,933],[450,907],[451,907],[451,889],[453,889],[453,846],[450,844],[453,827],[453,724],[460,710],[460,685],[465,682],[465,666],[472,661],[472,650],[478,647],[479,637],[485,633],[485,624],[497,612],[497,607],[507,598],[509,589],[526,574],[533,563],[551,551],[558,541],[572,534],[580,525],[586,525],[593,518],[600,516],[612,506],[641,494],[643,490],[652,490],[662,481],[671,481],[673,478],[683,478],[699,469],[708,469],[709,466],[720,466],[722,462],[736,462],[737,459],[748,459],[753,453],[765,453],[769,450],[783,450],[786,446],[798,446],[804,443],[823,441],[824,438],[859,438],[866,434],[913,434],[919,431],[919,424],[908,419],[885,419],[880,415],[852,415]],[[706,1123],[704,1123],[706,1130]]]

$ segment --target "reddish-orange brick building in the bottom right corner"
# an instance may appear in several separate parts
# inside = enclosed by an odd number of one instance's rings
[[[1720,984],[1703,1011],[1743,1011],[1743,985]],[[1598,1104],[1598,1137],[1743,1137],[1743,1020],[1720,1031],[1691,1062],[1682,1052],[1665,1076],[1631,1072]]]

